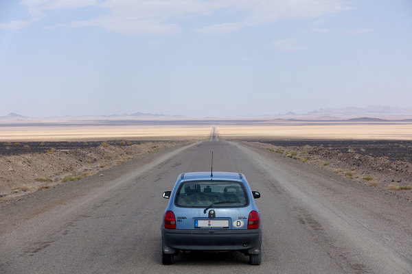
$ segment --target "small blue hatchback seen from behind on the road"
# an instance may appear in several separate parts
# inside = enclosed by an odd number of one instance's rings
[[[162,263],[172,264],[180,251],[240,251],[249,263],[262,260],[260,213],[242,173],[181,173],[161,225]]]

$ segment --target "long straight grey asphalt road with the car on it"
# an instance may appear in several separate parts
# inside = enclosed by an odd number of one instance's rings
[[[161,264],[181,172],[242,172],[262,215],[262,264],[185,253]],[[0,204],[0,273],[412,273],[412,203],[264,149],[212,137]]]

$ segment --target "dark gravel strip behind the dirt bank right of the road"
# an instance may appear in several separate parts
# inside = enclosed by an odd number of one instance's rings
[[[251,141],[251,140],[249,140]],[[341,153],[355,152],[391,161],[412,162],[412,140],[258,140],[284,147],[325,147]]]

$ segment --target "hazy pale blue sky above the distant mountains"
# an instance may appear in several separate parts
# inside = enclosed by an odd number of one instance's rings
[[[411,0],[0,0],[0,116],[412,105]]]

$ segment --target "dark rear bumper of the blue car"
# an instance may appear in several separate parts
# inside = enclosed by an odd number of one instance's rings
[[[162,229],[163,248],[260,253],[262,229]],[[258,250],[258,251],[256,251]],[[171,251],[173,252],[173,251]]]

